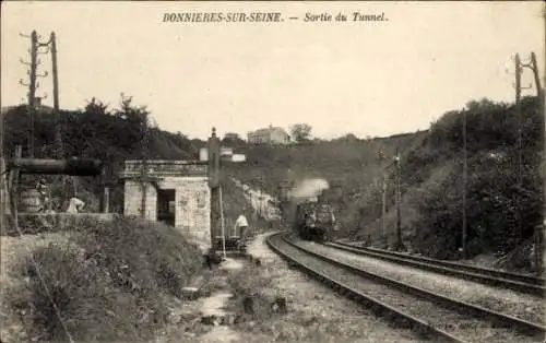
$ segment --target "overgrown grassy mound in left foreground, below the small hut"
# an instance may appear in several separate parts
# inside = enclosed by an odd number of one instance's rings
[[[20,264],[24,289],[4,293],[3,301],[24,314],[26,336],[68,341],[68,332],[74,341],[154,339],[168,323],[167,299],[200,270],[199,249],[169,226],[139,220],[90,218],[74,232],[69,244],[34,249],[37,268],[31,259]]]

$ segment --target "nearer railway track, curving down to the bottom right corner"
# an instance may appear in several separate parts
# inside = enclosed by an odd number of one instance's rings
[[[542,342],[545,328],[382,277],[321,253],[283,234],[268,245],[295,267],[437,342]],[[387,287],[385,287],[387,285]]]

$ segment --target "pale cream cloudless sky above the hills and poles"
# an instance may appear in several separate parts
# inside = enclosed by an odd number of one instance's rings
[[[26,102],[29,39],[58,46],[63,109],[120,94],[190,138],[297,122],[323,139],[427,129],[471,99],[513,102],[513,55],[535,51],[544,75],[544,5],[532,2],[3,1],[1,105]],[[353,22],[351,13],[388,21]],[[280,12],[280,23],[164,23],[165,13]],[[305,22],[306,13],[330,22]],[[333,21],[337,13],[347,22]],[[289,17],[298,20],[289,20]],[[51,70],[41,55],[38,71]],[[543,85],[546,83],[543,79]],[[37,96],[52,105],[50,76]],[[526,70],[523,85],[533,82]],[[524,91],[532,94],[534,90]]]

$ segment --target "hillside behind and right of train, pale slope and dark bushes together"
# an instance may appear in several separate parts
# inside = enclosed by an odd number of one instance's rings
[[[509,251],[532,235],[543,211],[541,161],[544,125],[538,99],[522,102],[522,168],[517,150],[518,119],[512,105],[487,99],[450,111],[428,131],[375,140],[335,140],[306,145],[247,146],[247,163],[228,173],[245,184],[276,194],[280,181],[305,178],[340,180],[345,235],[378,240],[381,170],[388,175],[385,218],[389,245],[395,240],[395,150],[401,154],[403,237],[420,252],[458,258],[462,227],[462,122],[467,118],[467,223],[472,256]],[[387,158],[380,167],[378,152]],[[517,187],[517,176],[522,187]],[[260,180],[261,179],[261,180]],[[520,196],[517,196],[520,194]],[[517,202],[523,209],[517,228]]]

